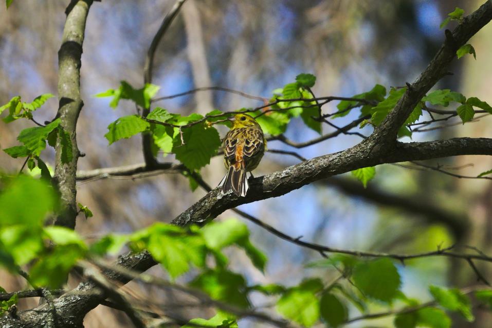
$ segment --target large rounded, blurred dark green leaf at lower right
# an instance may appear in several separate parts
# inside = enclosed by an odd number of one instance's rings
[[[391,302],[401,284],[398,270],[389,258],[359,262],[352,277],[364,295],[383,302]]]

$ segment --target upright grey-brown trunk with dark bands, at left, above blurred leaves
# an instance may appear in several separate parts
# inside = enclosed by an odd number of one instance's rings
[[[58,51],[59,109],[57,117],[60,117],[63,129],[70,134],[73,156],[68,163],[63,163],[61,138],[58,138],[54,180],[60,191],[64,211],[54,220],[54,224],[71,229],[75,228],[77,215],[75,175],[80,155],[77,147],[76,126],[79,113],[84,105],[80,98],[80,58],[82,56],[85,21],[92,3],[92,0],[72,2],[74,6],[67,11],[62,45]]]

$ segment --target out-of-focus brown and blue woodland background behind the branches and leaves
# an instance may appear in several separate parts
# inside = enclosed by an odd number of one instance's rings
[[[317,76],[318,96],[352,96],[380,83],[387,88],[413,81],[425,68],[444,40],[440,23],[455,6],[468,14],[479,7],[476,0],[188,0],[156,53],[153,83],[160,85],[159,96],[216,85],[262,97],[294,81],[299,73]],[[57,94],[57,51],[60,47],[64,9],[68,1],[14,1],[8,11],[0,9],[0,103],[21,95],[30,101],[42,93]],[[82,56],[81,91],[84,108],[78,123],[78,143],[84,158],[79,169],[113,167],[142,162],[140,136],[111,146],[103,135],[116,118],[135,113],[132,103],[121,101],[116,110],[109,99],[93,95],[117,88],[120,80],[134,87],[143,83],[145,54],[173,1],[119,0],[96,2],[90,9]],[[451,23],[451,27],[455,23]],[[492,25],[486,26],[470,42],[477,60],[466,56],[455,61],[454,75],[439,82],[466,96],[492,103]],[[47,101],[34,113],[39,122],[51,119],[57,99]],[[207,113],[242,107],[256,107],[261,101],[224,92],[200,92],[154,103],[171,112]],[[336,110],[336,102],[324,106],[325,113]],[[356,118],[356,113],[338,118],[339,126]],[[423,117],[428,118],[428,117]],[[454,122],[454,121],[453,121]],[[458,122],[458,121],[456,121]],[[452,136],[489,136],[490,118],[447,129],[415,133],[416,141]],[[18,132],[28,122],[0,123],[0,146],[17,144]],[[324,132],[331,127],[324,126]],[[222,131],[225,133],[225,131]],[[361,131],[368,135],[371,128]],[[290,123],[286,136],[307,141],[316,133],[300,120]],[[291,149],[278,141],[270,148],[296,150],[306,158],[348,148],[358,136],[336,139],[303,149]],[[407,137],[402,141],[410,141]],[[52,149],[43,152],[53,165]],[[174,161],[172,156],[159,161]],[[267,153],[255,176],[267,174],[298,160]],[[487,157],[460,157],[427,162],[445,165],[461,175],[476,176],[492,168]],[[16,171],[22,160],[0,152],[0,168]],[[214,158],[203,169],[204,179],[216,185],[225,174],[222,159]],[[178,174],[141,179],[101,179],[78,184],[78,201],[87,205],[94,217],[79,217],[77,231],[87,238],[108,232],[131,232],[155,221],[171,221],[205,192],[191,192],[188,181]],[[380,165],[367,189],[345,175],[305,186],[285,196],[241,206],[277,229],[304,240],[354,250],[411,253],[435,250],[438,245],[473,245],[492,253],[492,184],[487,180],[457,179],[432,170],[415,170]],[[237,217],[225,212],[221,218]],[[231,268],[253,283],[299,283],[303,277],[320,275],[326,281],[335,273],[305,265],[318,260],[316,252],[289,244],[250,225],[253,243],[269,257],[267,270],[254,269],[244,253],[230,251]],[[466,287],[476,284],[476,275],[463,262],[428,258],[399,265],[403,290],[412,297],[429,299],[429,284]],[[479,266],[490,277],[490,266]],[[161,275],[159,268],[150,270]],[[189,280],[185,276],[183,281]],[[23,281],[0,271],[1,285],[8,291],[24,287]],[[72,284],[75,284],[74,280]],[[136,296],[172,302],[173,295],[129,284]],[[253,300],[257,304],[264,299]],[[37,300],[23,300],[34,306]],[[371,309],[381,309],[373,304]],[[185,310],[183,310],[185,311]],[[357,315],[351,308],[351,315]],[[199,313],[199,315],[206,315]],[[466,324],[456,318],[457,327],[489,327],[490,316],[477,313],[477,321]],[[99,306],[85,321],[87,327],[131,326],[125,315]],[[356,322],[350,327],[388,327],[392,319]],[[240,326],[261,324],[242,320]]]

